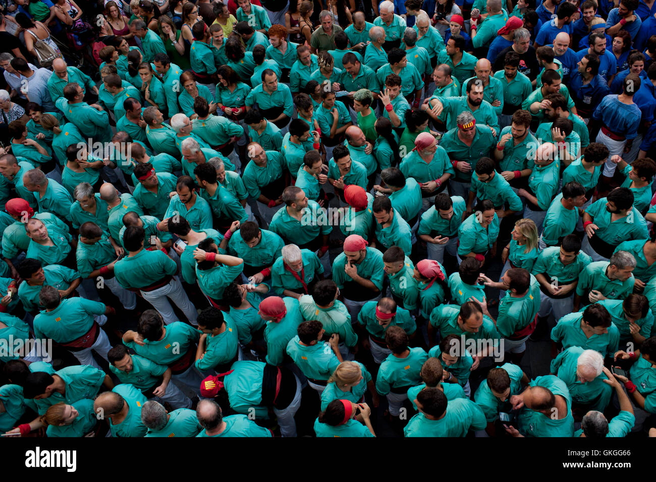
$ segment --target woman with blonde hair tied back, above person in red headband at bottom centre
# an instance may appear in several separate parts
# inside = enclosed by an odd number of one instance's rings
[[[364,401],[369,389],[373,406],[378,407],[379,396],[376,392],[371,374],[358,361],[342,361],[328,379],[325,390],[321,392],[321,410],[337,399],[350,400],[353,403]]]

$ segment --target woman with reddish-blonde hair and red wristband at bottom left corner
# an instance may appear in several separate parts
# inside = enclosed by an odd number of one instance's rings
[[[52,405],[41,418],[48,437],[95,437],[94,429],[98,424],[93,400],[85,398],[67,405]],[[31,424],[30,424],[31,425]],[[34,428],[32,428],[34,430]]]

